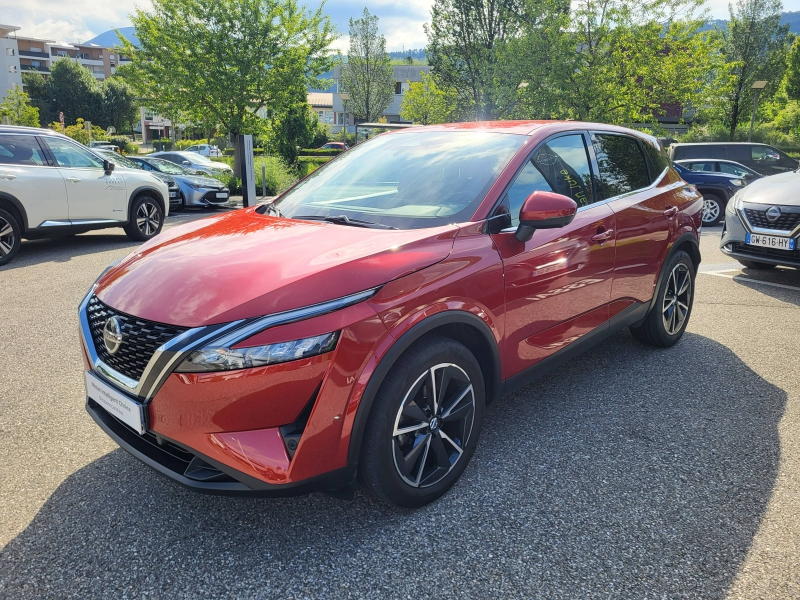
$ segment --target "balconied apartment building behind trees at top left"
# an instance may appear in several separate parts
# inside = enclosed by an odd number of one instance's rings
[[[43,77],[50,75],[50,67],[57,60],[67,58],[86,67],[103,80],[124,63],[126,57],[116,50],[97,44],[76,44],[57,40],[18,35],[19,27],[0,25],[0,94],[15,85],[22,85],[22,73],[38,71]]]

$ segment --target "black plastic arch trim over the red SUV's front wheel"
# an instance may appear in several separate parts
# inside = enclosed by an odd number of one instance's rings
[[[446,310],[434,315],[431,315],[419,323],[415,324],[408,331],[403,333],[386,351],[381,358],[369,382],[364,389],[361,400],[356,409],[356,416],[353,420],[353,427],[350,432],[349,449],[347,453],[347,464],[353,465],[358,462],[361,453],[361,443],[364,437],[364,429],[366,428],[370,412],[372,411],[372,403],[375,399],[378,390],[383,383],[383,380],[389,374],[392,366],[394,366],[397,359],[408,350],[416,341],[425,335],[434,332],[437,329],[445,328],[450,325],[464,325],[475,331],[482,337],[484,344],[490,349],[491,368],[493,370],[493,380],[491,384],[487,384],[487,403],[502,394],[502,371],[500,363],[500,349],[497,346],[494,334],[489,326],[483,319],[464,310]],[[446,333],[442,335],[448,336]],[[475,357],[480,363],[480,357]],[[490,387],[491,386],[491,387]]]

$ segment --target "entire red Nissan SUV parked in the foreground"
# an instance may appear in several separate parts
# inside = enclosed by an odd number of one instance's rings
[[[80,305],[86,408],[192,489],[415,507],[484,406],[692,310],[702,197],[642,133],[462,123],[380,135],[271,204],[172,228]]]

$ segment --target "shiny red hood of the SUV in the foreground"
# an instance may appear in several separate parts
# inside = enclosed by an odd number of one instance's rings
[[[458,228],[394,231],[293,221],[242,209],[175,227],[98,282],[109,306],[198,327],[360,292],[437,263]]]

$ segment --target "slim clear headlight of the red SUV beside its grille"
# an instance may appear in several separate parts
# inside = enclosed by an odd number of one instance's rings
[[[336,347],[339,332],[325,333],[293,342],[281,342],[253,348],[204,348],[192,352],[177,373],[206,373],[263,367],[330,352]]]

